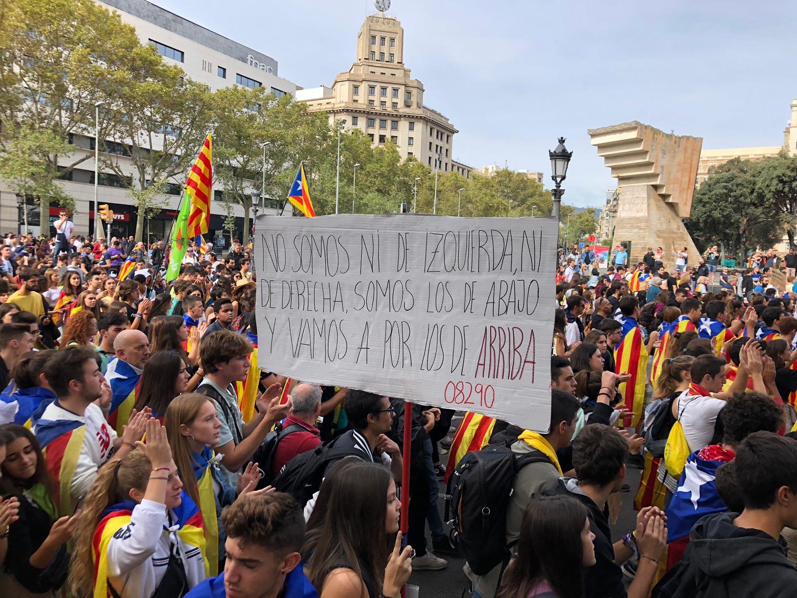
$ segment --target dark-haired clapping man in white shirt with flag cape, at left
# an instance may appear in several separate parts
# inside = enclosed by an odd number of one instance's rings
[[[33,413],[33,432],[45,450],[47,469],[57,486],[57,507],[61,515],[74,512],[75,505],[91,488],[97,470],[111,458],[128,454],[144,432],[151,415],[145,409],[133,411],[121,437],[108,424],[102,407],[111,400],[111,388],[100,373],[100,356],[88,347],[67,347],[57,351],[44,368],[57,395]]]

